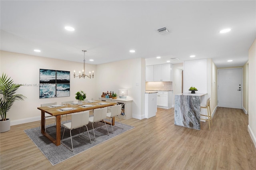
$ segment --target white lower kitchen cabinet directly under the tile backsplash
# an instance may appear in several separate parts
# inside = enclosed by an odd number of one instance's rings
[[[158,91],[157,107],[162,109],[172,108],[172,91]]]

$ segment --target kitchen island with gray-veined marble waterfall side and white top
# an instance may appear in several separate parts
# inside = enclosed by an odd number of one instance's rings
[[[200,130],[200,106],[206,101],[206,97],[208,97],[207,93],[175,95],[174,125]]]

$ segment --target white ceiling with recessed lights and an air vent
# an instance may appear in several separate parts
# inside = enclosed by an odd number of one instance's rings
[[[142,57],[146,65],[212,58],[242,66],[256,38],[256,1],[1,0],[0,10],[1,50],[82,62],[86,49],[96,65]]]

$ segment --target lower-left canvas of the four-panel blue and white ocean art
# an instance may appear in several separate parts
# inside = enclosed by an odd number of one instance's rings
[[[40,94],[39,98],[51,98],[51,97],[56,97],[56,84],[46,84],[42,83],[40,84]]]

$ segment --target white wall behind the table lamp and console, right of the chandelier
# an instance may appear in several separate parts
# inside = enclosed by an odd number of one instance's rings
[[[132,99],[132,117],[145,118],[145,59],[136,58],[97,65],[97,93],[128,89],[127,99]]]

